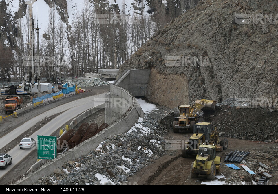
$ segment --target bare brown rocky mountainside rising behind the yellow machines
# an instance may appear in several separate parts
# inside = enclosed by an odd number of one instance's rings
[[[151,69],[146,97],[168,107],[202,98],[271,100],[278,84],[277,10],[277,1],[203,1],[156,32],[120,73]],[[235,14],[267,15],[270,21],[242,24],[246,19]]]

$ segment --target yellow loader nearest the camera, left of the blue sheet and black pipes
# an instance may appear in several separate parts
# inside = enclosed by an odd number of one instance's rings
[[[222,165],[221,157],[216,156],[215,152],[215,145],[200,145],[196,160],[191,164],[191,178],[206,175],[208,180],[215,179],[215,174],[220,173]]]

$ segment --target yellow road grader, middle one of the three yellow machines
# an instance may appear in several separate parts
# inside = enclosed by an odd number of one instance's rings
[[[216,151],[223,151],[228,148],[228,140],[219,140],[218,131],[211,131],[210,122],[198,122],[194,125],[193,135],[185,144],[185,149],[182,150],[182,157],[187,158],[188,155],[198,154],[199,145],[215,145]]]

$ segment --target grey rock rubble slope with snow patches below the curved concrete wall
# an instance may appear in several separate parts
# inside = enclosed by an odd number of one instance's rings
[[[65,162],[34,185],[121,185],[164,154],[161,135],[166,131],[159,125],[149,116],[140,118],[127,133],[109,136],[95,150]]]

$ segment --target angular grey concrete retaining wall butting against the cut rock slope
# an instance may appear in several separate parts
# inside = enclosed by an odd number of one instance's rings
[[[133,96],[145,96],[149,82],[150,69],[127,70],[113,85],[130,91]]]

